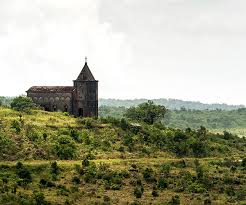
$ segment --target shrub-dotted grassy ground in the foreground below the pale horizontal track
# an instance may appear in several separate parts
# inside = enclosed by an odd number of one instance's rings
[[[245,204],[245,161],[1,163],[0,204]]]

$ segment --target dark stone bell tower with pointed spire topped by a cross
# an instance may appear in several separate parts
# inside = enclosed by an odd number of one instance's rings
[[[73,113],[78,117],[98,117],[98,81],[87,64],[73,81]]]

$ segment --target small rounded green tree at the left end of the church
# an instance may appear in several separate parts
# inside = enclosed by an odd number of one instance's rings
[[[29,97],[19,96],[13,99],[11,108],[17,111],[28,111],[35,108],[35,103]]]

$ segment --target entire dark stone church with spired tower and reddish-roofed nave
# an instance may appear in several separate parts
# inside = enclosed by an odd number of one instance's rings
[[[87,60],[73,86],[33,86],[26,92],[46,111],[68,112],[77,117],[98,116],[98,81]]]

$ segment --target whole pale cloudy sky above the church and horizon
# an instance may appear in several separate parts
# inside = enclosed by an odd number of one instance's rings
[[[1,0],[0,96],[71,85],[99,97],[246,105],[245,0]]]

